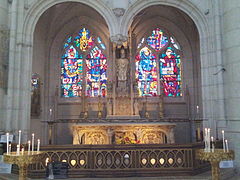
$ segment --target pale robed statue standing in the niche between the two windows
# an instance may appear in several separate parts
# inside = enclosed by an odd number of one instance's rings
[[[125,49],[121,48],[120,58],[117,59],[117,80],[118,81],[127,81],[128,73],[128,59],[126,58]]]

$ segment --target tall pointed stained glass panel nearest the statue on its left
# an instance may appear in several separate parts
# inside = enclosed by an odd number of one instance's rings
[[[86,95],[96,97],[107,93],[107,60],[101,50],[95,46],[86,59]]]

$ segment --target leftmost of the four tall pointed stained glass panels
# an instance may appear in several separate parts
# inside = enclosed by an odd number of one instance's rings
[[[82,94],[83,58],[73,46],[62,57],[61,90],[63,97],[80,97]]]

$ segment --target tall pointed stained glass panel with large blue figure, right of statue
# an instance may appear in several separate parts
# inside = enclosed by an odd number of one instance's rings
[[[140,50],[135,58],[136,81],[139,96],[157,95],[157,67],[156,56],[147,47]]]

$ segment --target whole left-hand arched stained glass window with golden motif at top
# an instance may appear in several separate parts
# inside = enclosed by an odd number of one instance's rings
[[[86,28],[82,28],[76,37],[67,38],[61,60],[62,97],[80,97],[83,92],[89,97],[106,96],[107,59],[102,52],[106,47],[100,37],[97,39],[100,48]]]

